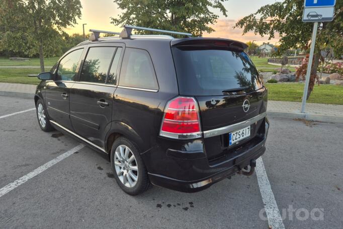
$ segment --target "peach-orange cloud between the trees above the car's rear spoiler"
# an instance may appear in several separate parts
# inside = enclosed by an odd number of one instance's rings
[[[255,43],[262,44],[263,42],[270,42],[274,43],[279,41],[279,36],[276,35],[275,38],[268,40],[268,36],[261,37],[260,35],[255,35],[253,32],[247,32],[243,34],[243,29],[235,28],[236,20],[232,19],[219,19],[216,24],[212,25],[211,27],[215,30],[210,34],[204,33],[204,37],[220,37],[220,38],[227,38],[232,40],[239,40],[242,42],[248,42],[255,40]]]

